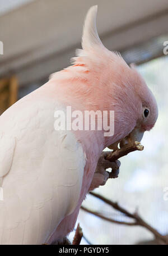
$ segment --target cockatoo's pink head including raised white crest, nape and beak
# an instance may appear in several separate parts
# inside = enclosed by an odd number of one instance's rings
[[[115,149],[118,143],[122,147],[131,141],[141,141],[144,131],[155,125],[157,104],[136,68],[102,44],[96,14],[97,6],[92,6],[83,27],[82,49],[72,58],[74,65],[52,77],[54,88],[58,80],[57,94],[60,91],[60,98],[74,109],[114,111],[114,136],[103,139],[103,132],[95,134],[102,138],[99,141],[103,147]],[[59,86],[60,81],[64,86]],[[80,138],[81,134],[80,131]]]

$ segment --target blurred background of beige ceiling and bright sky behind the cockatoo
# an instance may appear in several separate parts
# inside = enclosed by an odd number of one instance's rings
[[[159,110],[156,126],[142,140],[143,152],[123,157],[118,179],[95,191],[131,213],[138,208],[149,225],[167,235],[167,0],[0,0],[0,112],[43,85],[51,73],[69,66],[75,49],[81,48],[86,12],[94,4],[102,42],[119,51],[128,64],[136,63]],[[122,213],[94,196],[88,195],[83,205],[125,221]],[[110,223],[83,210],[77,222],[86,237],[82,244],[158,243],[144,227]]]

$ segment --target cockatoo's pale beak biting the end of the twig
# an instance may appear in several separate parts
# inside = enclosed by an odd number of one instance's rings
[[[134,128],[134,130],[132,132],[130,132],[129,135],[127,135],[122,140],[117,141],[114,144],[111,144],[108,148],[116,150],[116,149],[118,149],[118,144],[119,144],[120,148],[122,148],[124,145],[134,144],[135,141],[141,142],[141,140],[143,138],[143,134],[144,134],[144,131],[142,131],[141,129],[139,129],[139,127],[136,126]]]

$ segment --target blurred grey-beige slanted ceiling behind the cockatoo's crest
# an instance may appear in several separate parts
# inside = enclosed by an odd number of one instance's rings
[[[0,16],[0,75],[24,85],[66,67],[80,47],[86,12],[98,5],[97,28],[109,49],[123,51],[168,34],[167,0],[36,0]]]

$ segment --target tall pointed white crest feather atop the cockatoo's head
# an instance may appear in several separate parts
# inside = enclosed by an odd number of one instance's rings
[[[83,26],[82,48],[86,51],[96,45],[104,47],[97,33],[96,15],[97,6],[92,6],[87,12],[85,24]]]

